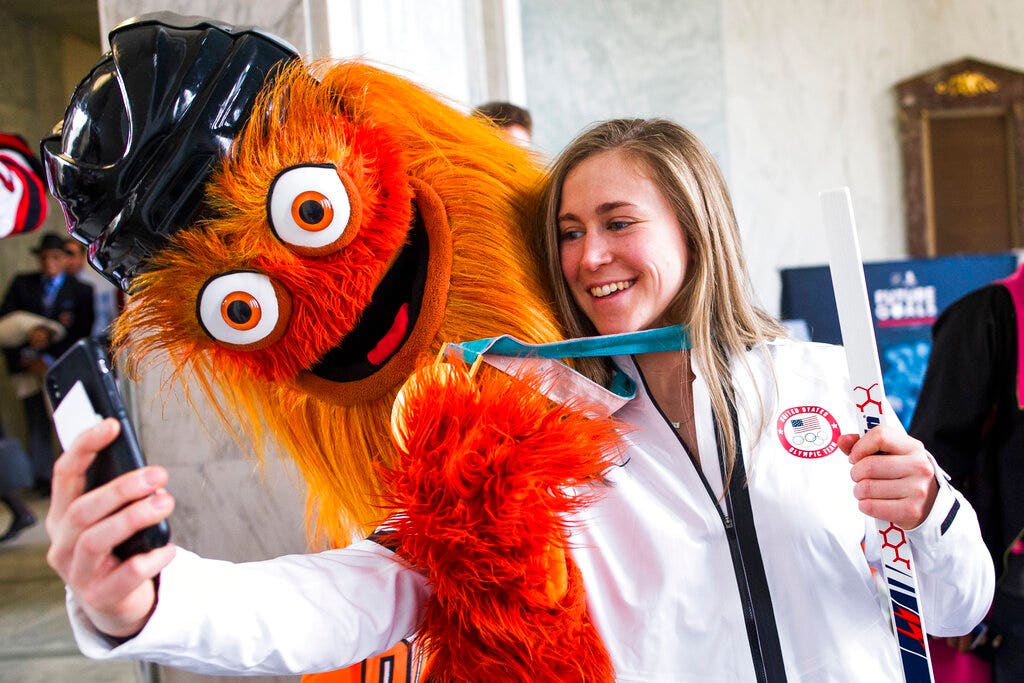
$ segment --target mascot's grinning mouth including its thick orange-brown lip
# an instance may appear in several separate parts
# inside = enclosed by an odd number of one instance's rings
[[[452,229],[440,198],[410,178],[415,197],[406,245],[377,285],[355,328],[299,374],[301,387],[339,405],[397,388],[435,342],[452,278]]]

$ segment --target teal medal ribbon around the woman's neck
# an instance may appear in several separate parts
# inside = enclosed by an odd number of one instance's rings
[[[627,332],[602,337],[581,337],[547,344],[527,344],[515,337],[502,335],[468,342],[451,343],[445,350],[454,350],[463,360],[472,365],[484,354],[519,358],[590,358],[609,355],[634,355],[657,351],[680,351],[691,348],[690,336],[683,325],[667,328]],[[612,377],[610,391],[624,398],[636,395],[636,383],[617,371]]]

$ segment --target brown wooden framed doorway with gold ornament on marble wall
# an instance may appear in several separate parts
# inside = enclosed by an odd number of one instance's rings
[[[1024,73],[965,58],[896,93],[909,255],[1024,247]]]

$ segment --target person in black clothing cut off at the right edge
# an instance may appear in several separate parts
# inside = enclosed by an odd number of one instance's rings
[[[1024,681],[1024,266],[948,306],[910,433],[978,511],[997,573],[985,631],[958,643],[992,663],[996,683]]]

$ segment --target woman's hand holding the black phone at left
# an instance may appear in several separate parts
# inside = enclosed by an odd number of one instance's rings
[[[86,615],[114,638],[137,634],[157,605],[154,579],[174,557],[174,546],[121,561],[114,547],[135,531],[170,516],[174,498],[164,489],[167,470],[148,466],[85,490],[85,471],[96,453],[118,435],[108,418],[82,433],[53,465],[46,515],[46,561],[75,592]]]

